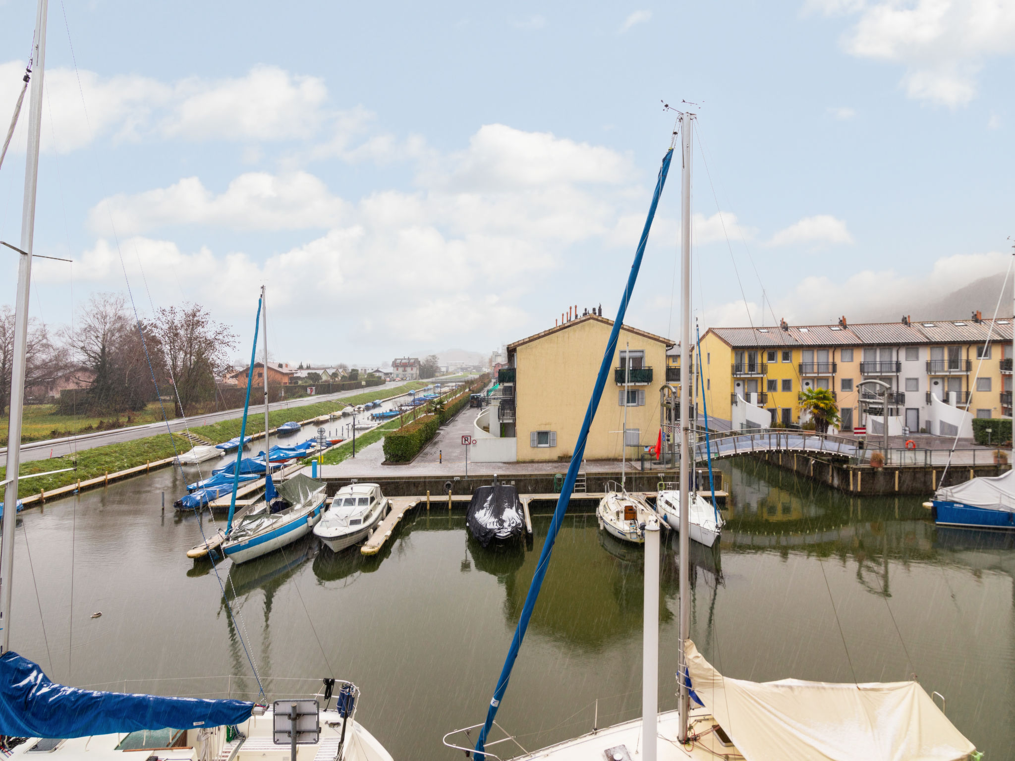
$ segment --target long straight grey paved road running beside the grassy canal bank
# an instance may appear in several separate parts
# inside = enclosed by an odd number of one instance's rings
[[[398,384],[401,385],[401,384]],[[395,384],[389,382],[387,388],[394,388]],[[375,386],[363,389],[352,389],[350,391],[342,391],[336,394],[322,394],[319,397],[304,397],[301,399],[290,399],[284,402],[275,402],[269,404],[269,408],[272,410],[284,410],[290,407],[302,407],[308,404],[317,404],[318,402],[329,402],[335,399],[342,399],[344,397],[355,396],[356,394],[362,394],[370,389],[385,389],[385,386]],[[257,413],[261,413],[262,408],[258,406]],[[220,420],[231,420],[233,418],[243,417],[244,411],[242,409],[238,410],[223,410],[221,412],[211,412],[207,415],[194,415],[188,418],[176,418],[170,420],[170,429],[173,431],[183,431],[191,426],[207,425],[209,423],[217,423]],[[254,412],[254,394],[251,394],[251,414]],[[21,462],[28,462],[29,460],[45,460],[49,457],[60,457],[62,455],[70,455],[80,449],[90,449],[93,446],[105,446],[106,444],[119,443],[121,441],[133,441],[137,438],[145,438],[147,436],[153,436],[156,433],[162,433],[165,431],[165,422],[158,423],[147,423],[145,425],[134,425],[129,428],[115,428],[114,430],[104,430],[94,431],[92,433],[82,433],[78,436],[67,436],[64,438],[51,438],[45,441],[32,441],[30,443],[21,444]],[[7,448],[0,448],[0,457],[5,456]],[[52,453],[52,455],[51,455]]]

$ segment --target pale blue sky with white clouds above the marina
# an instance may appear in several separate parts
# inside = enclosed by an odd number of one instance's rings
[[[36,4],[0,13],[6,125]],[[35,246],[74,264],[35,260],[30,313],[198,302],[239,357],[265,284],[272,354],[316,363],[612,317],[666,102],[697,114],[701,330],[859,322],[1009,267],[1013,81],[1015,0],[52,0]],[[26,126],[0,167],[15,244]],[[679,230],[678,159],[626,320],[675,338]]]

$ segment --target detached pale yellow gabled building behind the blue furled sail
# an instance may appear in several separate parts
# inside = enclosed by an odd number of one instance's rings
[[[613,321],[588,315],[507,345],[511,366],[499,372],[499,419],[502,436],[517,439],[518,462],[570,459],[612,328]],[[587,460],[619,460],[625,440],[627,456],[635,458],[656,443],[672,346],[669,339],[623,326],[589,432]]]

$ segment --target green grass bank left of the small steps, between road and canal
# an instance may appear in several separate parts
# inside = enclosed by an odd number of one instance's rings
[[[168,433],[159,433],[156,436],[139,438],[135,441],[124,441],[122,443],[107,444],[106,446],[95,446],[91,449],[81,449],[73,456],[61,458],[49,458],[47,460],[32,460],[22,463],[20,475],[29,473],[45,473],[46,471],[61,470],[63,468],[73,468],[77,461],[76,471],[57,473],[52,476],[40,476],[39,478],[26,478],[17,484],[17,496],[20,498],[38,494],[40,489],[51,491],[61,486],[85,481],[89,478],[97,478],[106,473],[116,473],[128,468],[136,468],[146,462],[164,460],[173,457],[173,444],[176,442],[176,452],[184,453],[191,448],[191,442],[183,436],[173,434],[173,441],[170,440]],[[0,480],[6,478],[6,468],[0,468]],[[2,495],[0,495],[2,496]]]

